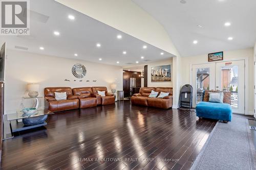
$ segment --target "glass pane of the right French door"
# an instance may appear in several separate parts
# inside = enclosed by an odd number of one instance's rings
[[[221,89],[231,92],[231,106],[238,108],[238,66],[221,67]]]

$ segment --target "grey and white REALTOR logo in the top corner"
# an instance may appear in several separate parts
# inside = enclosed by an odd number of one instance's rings
[[[1,35],[29,35],[29,0],[1,1]]]

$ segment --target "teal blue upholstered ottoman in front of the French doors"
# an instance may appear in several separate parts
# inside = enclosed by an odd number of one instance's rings
[[[212,118],[230,122],[232,109],[227,103],[200,102],[197,104],[196,113],[198,117]]]

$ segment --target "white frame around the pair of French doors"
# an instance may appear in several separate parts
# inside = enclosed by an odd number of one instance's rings
[[[230,61],[237,61],[237,60],[244,60],[245,61],[245,114],[246,115],[253,115],[253,113],[249,113],[249,58],[248,57],[243,57],[243,58],[233,58],[233,59],[227,59],[227,60],[220,60],[220,61],[212,61],[212,62],[190,62],[189,63],[189,82],[190,84],[193,83],[192,76],[193,76],[193,70],[192,70],[192,65],[195,64],[208,64],[208,63],[219,63],[219,62],[230,62]],[[246,76],[247,75],[247,76]]]

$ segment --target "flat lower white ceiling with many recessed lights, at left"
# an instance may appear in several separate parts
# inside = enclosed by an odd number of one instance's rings
[[[110,65],[134,65],[164,60],[174,55],[147,44],[135,37],[122,33],[102,22],[79,13],[53,0],[30,1],[30,36],[1,36],[0,42],[7,41],[7,47],[27,47],[26,51],[72,59],[81,59]],[[68,15],[74,15],[70,20]],[[60,32],[55,36],[54,31]],[[117,39],[117,35],[122,39]],[[100,43],[101,47],[96,47]],[[147,45],[143,49],[143,45]],[[43,46],[45,50],[39,50]],[[123,55],[122,52],[127,54]],[[75,57],[74,54],[78,56]],[[144,59],[141,59],[141,56]],[[102,58],[99,61],[99,58]],[[119,61],[119,64],[116,62]]]

